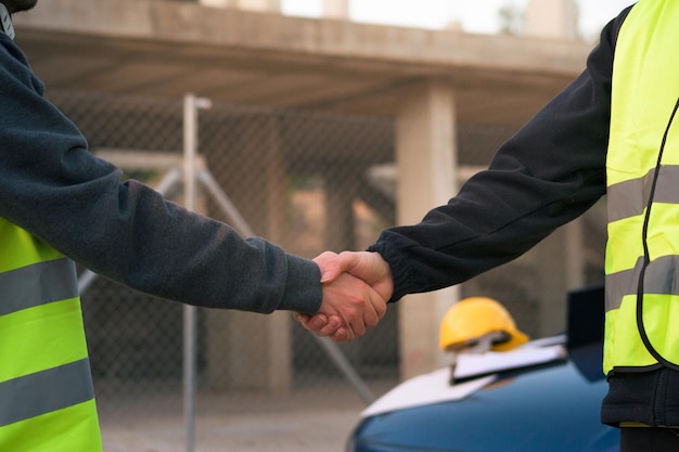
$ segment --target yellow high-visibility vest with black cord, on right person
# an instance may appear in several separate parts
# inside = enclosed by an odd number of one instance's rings
[[[679,369],[679,2],[640,0],[615,48],[603,370]]]

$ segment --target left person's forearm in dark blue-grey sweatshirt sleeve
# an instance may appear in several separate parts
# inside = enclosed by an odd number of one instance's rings
[[[43,190],[23,184],[15,201],[3,203],[10,204],[3,216],[81,264],[153,295],[259,312],[320,306],[312,261],[264,240],[244,241],[138,182],[118,185],[115,173],[102,179]]]

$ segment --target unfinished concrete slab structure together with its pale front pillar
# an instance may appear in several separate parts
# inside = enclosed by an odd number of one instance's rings
[[[42,1],[15,17],[16,41],[50,89],[194,92],[215,102],[393,117],[398,223],[418,221],[454,193],[458,124],[521,126],[581,72],[591,48],[351,23],[346,2],[322,18],[284,16],[278,1],[241,2]],[[564,256],[574,249],[563,240],[550,246]],[[581,282],[577,259],[542,267],[550,290]],[[449,289],[401,302],[402,376],[439,364],[438,321],[454,297]]]

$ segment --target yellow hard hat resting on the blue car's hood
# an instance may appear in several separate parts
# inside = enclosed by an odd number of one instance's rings
[[[458,350],[490,333],[504,333],[507,340],[495,341],[491,350],[507,351],[528,341],[514,319],[492,298],[470,297],[456,302],[440,323],[440,348]]]

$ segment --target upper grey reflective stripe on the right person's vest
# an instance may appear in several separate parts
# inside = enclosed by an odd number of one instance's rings
[[[649,171],[643,178],[632,179],[608,186],[608,221],[617,221],[623,218],[636,217],[643,212],[649,204],[653,172]],[[656,203],[679,204],[679,166],[667,165],[661,167],[655,196]]]

